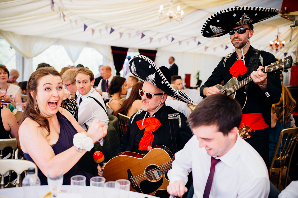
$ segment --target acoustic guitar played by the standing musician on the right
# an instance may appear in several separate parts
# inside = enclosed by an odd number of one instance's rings
[[[262,68],[261,71],[264,73],[266,72],[274,73],[282,70],[284,72],[287,72],[287,69],[292,67],[292,63],[293,63],[292,57],[288,56],[284,59],[280,59],[279,61],[276,61],[275,63],[271,63],[270,65],[265,66],[264,68]],[[233,77],[224,86],[221,86],[221,85],[215,85],[215,86],[221,91],[222,94],[231,95],[235,99],[236,91],[246,86],[251,81],[252,81],[251,76],[247,77],[242,81],[238,81],[237,78]],[[237,99],[240,105],[242,106],[242,109],[245,106],[246,99],[247,99],[247,95],[244,97],[244,99],[242,99],[243,102]]]

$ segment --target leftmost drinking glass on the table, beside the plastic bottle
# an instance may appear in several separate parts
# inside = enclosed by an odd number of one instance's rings
[[[47,185],[50,187],[51,196],[56,197],[63,183],[62,169],[49,169],[47,172]]]

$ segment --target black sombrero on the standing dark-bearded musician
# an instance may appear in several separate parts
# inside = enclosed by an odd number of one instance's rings
[[[279,10],[274,8],[231,7],[211,15],[201,34],[203,37],[220,37],[240,25],[254,24],[278,14]]]

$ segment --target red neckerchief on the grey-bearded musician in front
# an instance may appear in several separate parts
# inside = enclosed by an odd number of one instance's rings
[[[157,120],[157,118],[155,117],[147,117],[145,118],[143,125],[142,122],[143,120],[137,121],[139,129],[145,129],[144,135],[139,143],[139,150],[150,151],[152,149],[152,143],[154,138],[152,132],[158,129],[158,127],[160,126],[160,121]]]

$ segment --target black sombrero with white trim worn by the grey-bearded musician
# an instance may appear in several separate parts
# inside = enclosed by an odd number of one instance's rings
[[[171,86],[171,72],[167,67],[162,66],[158,68],[156,64],[146,56],[136,55],[130,59],[129,69],[140,81],[148,81],[173,98],[188,104],[193,104],[191,97],[182,91],[175,90]]]

